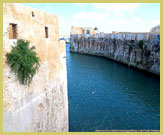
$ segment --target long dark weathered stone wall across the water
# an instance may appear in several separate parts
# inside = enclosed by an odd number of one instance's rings
[[[139,44],[143,41],[143,46]],[[159,33],[71,35],[71,52],[104,56],[160,75]]]

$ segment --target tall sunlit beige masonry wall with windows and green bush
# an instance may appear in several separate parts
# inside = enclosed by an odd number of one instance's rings
[[[32,17],[32,12],[34,17]],[[41,59],[31,85],[20,84],[6,64],[6,53],[17,39],[9,39],[9,24],[17,24],[17,38],[30,41]],[[45,38],[48,27],[48,38]],[[3,129],[12,132],[68,131],[65,43],[59,42],[56,15],[3,5]]]

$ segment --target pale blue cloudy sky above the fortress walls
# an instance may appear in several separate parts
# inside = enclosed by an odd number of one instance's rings
[[[71,27],[97,27],[100,32],[149,32],[160,24],[159,3],[24,3],[54,13],[60,34]]]

